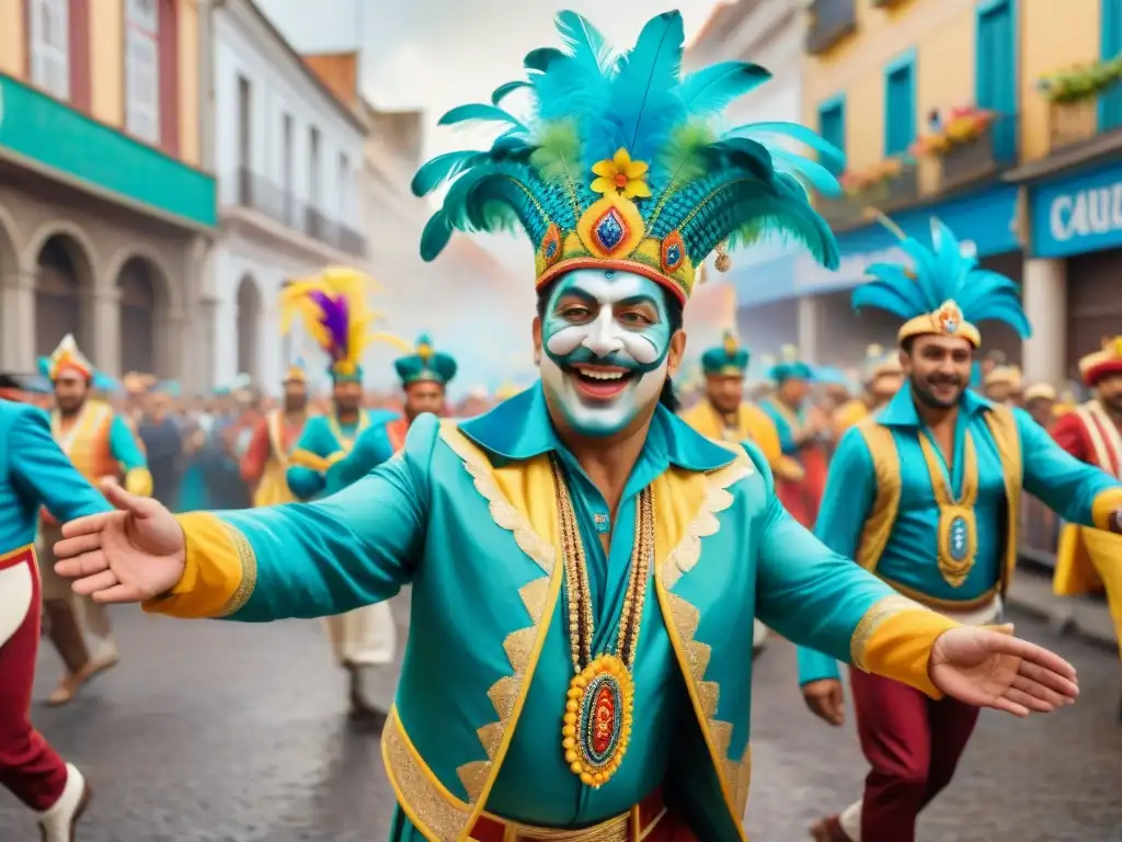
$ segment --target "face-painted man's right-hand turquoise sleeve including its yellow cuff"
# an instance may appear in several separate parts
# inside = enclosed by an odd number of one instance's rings
[[[760,619],[799,646],[940,698],[928,661],[936,639],[958,623],[829,550],[783,509],[763,459],[753,461],[767,500],[756,549]]]

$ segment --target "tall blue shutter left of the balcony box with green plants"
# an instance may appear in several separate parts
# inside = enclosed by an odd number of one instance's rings
[[[975,102],[996,111],[994,157],[1017,158],[1017,26],[1011,0],[986,2],[977,10]]]

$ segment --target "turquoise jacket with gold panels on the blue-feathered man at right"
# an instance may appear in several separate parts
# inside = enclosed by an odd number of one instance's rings
[[[1008,442],[1002,440],[1006,428],[993,425],[1001,418],[1008,419]],[[891,436],[891,441],[870,439],[866,425],[880,431],[874,434]],[[843,436],[830,463],[815,534],[907,596],[936,610],[968,611],[991,602],[1008,583],[1015,559],[1022,487],[1065,520],[1085,525],[1122,506],[1122,484],[1069,456],[1028,413],[995,406],[973,391],[963,394],[955,428],[956,456],[949,478],[956,496],[963,492],[966,460],[959,455],[967,430],[977,454],[977,529],[974,564],[962,580],[948,576],[939,562],[939,505],[919,437],[928,437],[944,477],[946,463],[916,412],[909,385],[872,419]],[[875,442],[872,447],[871,441]],[[890,483],[898,487],[895,511],[885,520],[877,542],[873,533],[877,512],[886,502],[882,493]],[[871,553],[873,543],[883,548]],[[837,677],[833,656],[799,650],[800,684]]]

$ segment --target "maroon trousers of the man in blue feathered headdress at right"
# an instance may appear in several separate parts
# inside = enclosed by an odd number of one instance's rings
[[[865,778],[862,842],[914,842],[919,812],[950,782],[978,708],[849,670]]]

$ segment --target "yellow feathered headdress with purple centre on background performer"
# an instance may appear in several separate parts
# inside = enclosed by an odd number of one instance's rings
[[[389,342],[403,351],[413,350],[392,333],[370,330],[381,318],[366,300],[375,289],[367,275],[341,266],[329,266],[315,277],[295,281],[280,292],[280,332],[286,335],[300,317],[312,339],[331,358],[332,379],[361,381],[360,361],[367,346]]]

